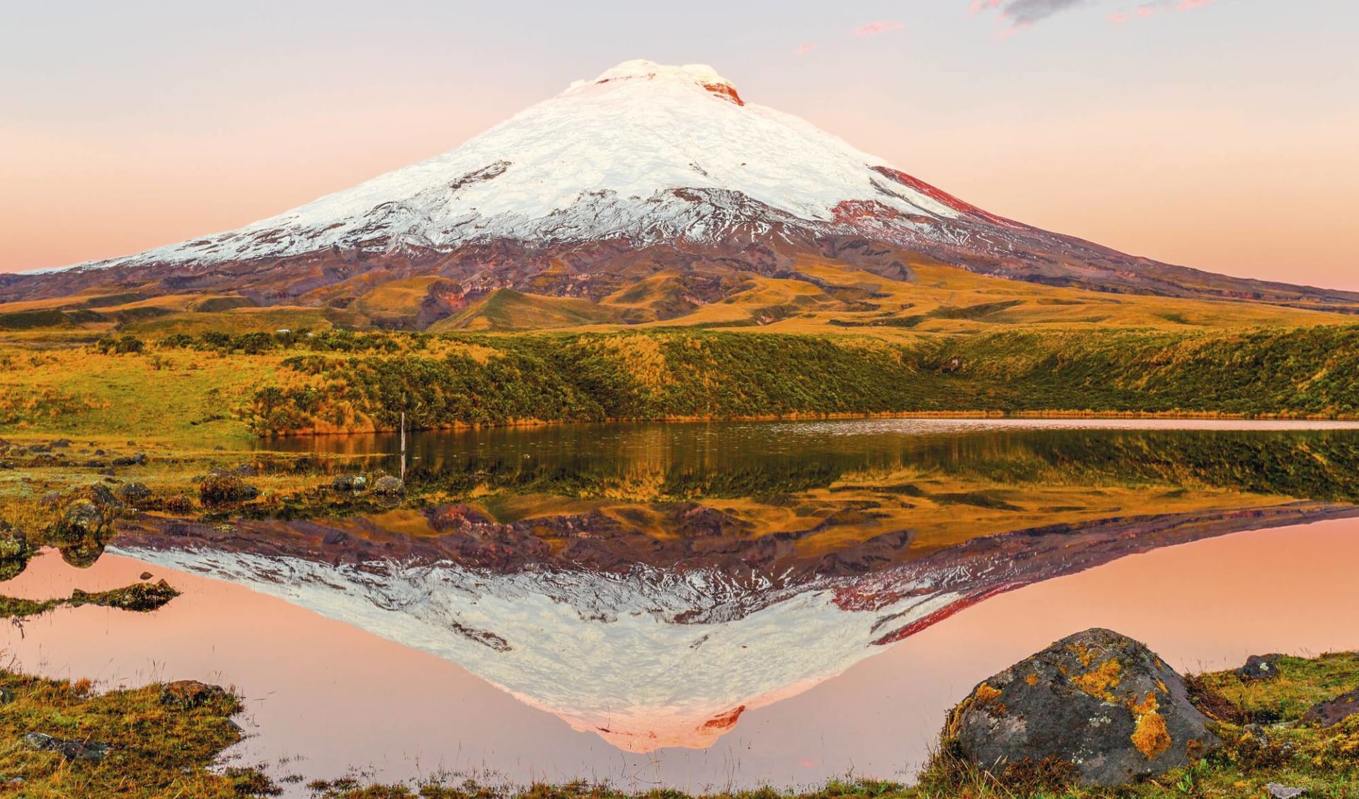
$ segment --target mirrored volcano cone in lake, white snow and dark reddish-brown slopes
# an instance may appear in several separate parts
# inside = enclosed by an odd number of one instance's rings
[[[677,538],[644,558],[584,568],[571,546],[534,546],[531,530],[512,525],[409,537],[371,527],[360,535],[355,522],[231,529],[143,518],[116,549],[432,652],[576,730],[647,751],[709,746],[745,709],[799,693],[881,651],[874,644],[989,595],[1159,546],[1345,515],[1359,508],[1295,503],[1108,519],[977,538],[916,560],[851,558],[829,571],[780,558],[752,567],[764,561],[741,549],[768,546],[761,538],[733,538],[711,561],[692,561],[694,542]]]

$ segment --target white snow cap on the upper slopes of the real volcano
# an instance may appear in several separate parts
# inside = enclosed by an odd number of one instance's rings
[[[491,241],[722,242],[972,216],[840,137],[746,103],[712,67],[626,61],[443,155],[243,228],[98,266],[451,251]],[[949,234],[945,234],[949,235]]]

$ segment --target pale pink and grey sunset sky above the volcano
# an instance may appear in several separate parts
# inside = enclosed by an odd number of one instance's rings
[[[652,58],[1004,216],[1359,289],[1355,23],[1352,0],[10,4],[0,270],[238,227]]]

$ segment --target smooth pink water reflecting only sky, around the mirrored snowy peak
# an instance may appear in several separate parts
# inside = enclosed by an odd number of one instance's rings
[[[852,770],[909,777],[945,711],[976,682],[1048,643],[1108,626],[1180,669],[1253,652],[1359,648],[1359,519],[1238,533],[1129,556],[989,599],[844,674],[752,709],[707,750],[613,749],[459,666],[204,578],[152,569],[183,597],[152,614],[63,609],[0,633],[26,670],[107,686],[196,678],[238,686],[253,736],[232,756],[275,773],[389,780],[472,770],[515,781],[622,787],[805,785]],[[5,592],[50,597],[135,582],[148,567],[54,554]],[[299,760],[292,760],[299,758]],[[280,760],[288,760],[277,765]]]

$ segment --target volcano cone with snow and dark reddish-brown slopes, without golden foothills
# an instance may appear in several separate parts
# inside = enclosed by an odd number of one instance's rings
[[[398,319],[427,326],[497,289],[599,302],[665,276],[669,302],[609,319],[626,322],[684,315],[752,274],[815,283],[799,269],[807,257],[887,280],[912,280],[924,261],[1104,292],[1359,304],[1003,219],[746,102],[709,67],[651,61],[572,83],[443,155],[246,227],[7,276],[0,302],[98,288],[342,308],[374,287],[436,277]]]

